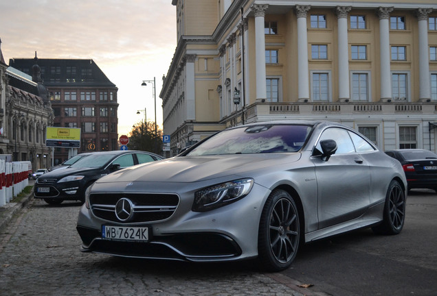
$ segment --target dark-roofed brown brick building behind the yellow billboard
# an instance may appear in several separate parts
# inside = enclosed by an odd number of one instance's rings
[[[36,53],[35,53],[36,58]],[[30,73],[34,59],[12,58],[10,66]],[[81,129],[77,153],[117,150],[117,87],[93,60],[37,59],[49,90],[55,127]],[[54,164],[67,160],[71,149],[56,148]]]

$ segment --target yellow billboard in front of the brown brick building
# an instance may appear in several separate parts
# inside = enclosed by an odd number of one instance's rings
[[[47,147],[80,147],[80,128],[47,127],[45,139]]]

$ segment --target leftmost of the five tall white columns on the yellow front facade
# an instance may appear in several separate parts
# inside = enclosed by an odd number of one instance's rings
[[[255,14],[255,66],[256,66],[256,99],[267,99],[265,70],[265,11],[269,5],[252,5]]]

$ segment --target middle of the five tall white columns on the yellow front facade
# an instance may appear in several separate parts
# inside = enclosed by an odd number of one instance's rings
[[[338,25],[338,89],[339,101],[349,101],[348,13],[350,6],[337,6]]]

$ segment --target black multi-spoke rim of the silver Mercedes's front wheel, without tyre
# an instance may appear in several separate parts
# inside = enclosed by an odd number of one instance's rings
[[[276,260],[287,263],[298,250],[299,220],[289,199],[280,199],[270,215],[270,247]]]

